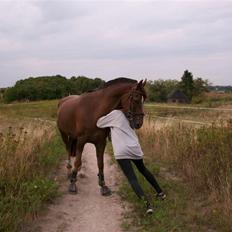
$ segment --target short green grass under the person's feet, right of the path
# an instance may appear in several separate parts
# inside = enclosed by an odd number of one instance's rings
[[[231,231],[230,216],[222,217],[219,209],[212,208],[214,205],[212,199],[204,198],[201,194],[193,194],[185,182],[165,178],[157,171],[159,169],[157,165],[151,164],[149,169],[152,170],[167,193],[167,198],[164,201],[156,199],[154,190],[136,172],[142,188],[154,205],[154,214],[145,215],[144,204],[138,200],[127,180],[124,179],[119,194],[132,206],[131,210],[124,213],[124,221],[121,226],[125,231]]]

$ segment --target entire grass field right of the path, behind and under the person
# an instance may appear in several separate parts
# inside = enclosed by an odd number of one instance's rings
[[[232,231],[232,112],[184,107],[146,106],[149,116],[138,136],[167,200],[155,199],[137,173],[155,206],[146,217],[124,179],[120,194],[133,206],[122,224],[127,231]]]

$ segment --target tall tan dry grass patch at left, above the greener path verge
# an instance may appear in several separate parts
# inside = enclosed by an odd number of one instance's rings
[[[0,183],[1,190],[18,184],[33,172],[36,152],[54,136],[54,129],[44,122],[30,123],[20,128],[9,127],[0,134]]]

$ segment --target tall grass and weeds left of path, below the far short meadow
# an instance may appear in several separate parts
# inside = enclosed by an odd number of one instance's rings
[[[48,121],[31,120],[1,130],[0,231],[18,231],[26,215],[55,196],[47,169],[58,162],[63,149]]]

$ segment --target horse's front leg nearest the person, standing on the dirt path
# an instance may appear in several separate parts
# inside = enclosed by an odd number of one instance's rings
[[[104,178],[104,151],[106,141],[95,144],[97,153],[97,164],[98,164],[98,184],[101,187],[101,194],[103,196],[111,195],[111,189],[105,184]]]

